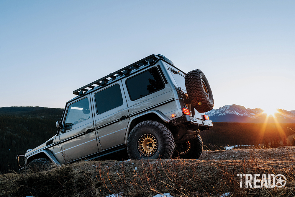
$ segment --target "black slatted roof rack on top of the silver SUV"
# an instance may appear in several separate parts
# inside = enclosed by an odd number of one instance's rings
[[[126,66],[120,70],[117,70],[116,72],[113,72],[103,78],[100,78],[100,79],[98,79],[86,86],[76,89],[75,91],[73,91],[73,94],[74,95],[83,95],[84,92],[87,92],[88,90],[93,89],[95,87],[98,87],[98,86],[104,87],[110,80],[114,80],[114,79],[120,78],[122,76],[128,76],[132,70],[137,69],[140,66],[144,66],[144,65],[148,65],[148,64],[153,65],[160,58],[162,58],[160,55],[159,56],[150,55],[150,56],[143,58],[133,64],[130,64],[129,66]]]

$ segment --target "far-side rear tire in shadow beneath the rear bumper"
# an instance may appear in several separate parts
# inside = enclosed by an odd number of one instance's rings
[[[195,139],[183,143],[183,148],[178,150],[182,159],[199,159],[203,151],[203,141],[200,135]]]

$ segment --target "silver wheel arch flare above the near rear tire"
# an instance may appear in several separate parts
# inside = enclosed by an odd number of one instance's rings
[[[143,121],[157,121],[159,123],[162,123],[165,125],[165,123],[170,122],[170,120],[160,111],[158,110],[151,110],[145,113],[141,113],[139,115],[136,115],[130,119],[128,127],[127,127],[127,132],[125,135],[125,141],[124,144],[127,145],[127,138],[132,130],[138,123],[143,122]]]

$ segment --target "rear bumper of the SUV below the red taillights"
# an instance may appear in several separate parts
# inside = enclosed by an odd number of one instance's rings
[[[173,125],[183,125],[188,126],[193,124],[194,126],[198,127],[201,130],[208,130],[210,127],[213,126],[212,121],[202,120],[199,118],[194,118],[190,115],[183,115],[179,118],[175,118],[171,120]]]

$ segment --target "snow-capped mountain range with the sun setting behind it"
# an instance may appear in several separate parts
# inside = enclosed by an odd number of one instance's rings
[[[225,105],[222,108],[206,112],[213,122],[241,122],[241,123],[295,123],[295,110],[278,109],[274,117],[267,117],[260,108],[250,109],[241,105]]]

